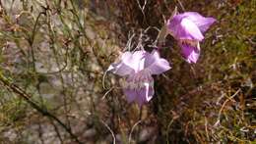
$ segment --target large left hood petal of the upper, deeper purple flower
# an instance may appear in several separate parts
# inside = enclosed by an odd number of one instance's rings
[[[176,39],[189,39],[201,41],[204,39],[199,27],[182,15],[175,16],[168,23],[170,33]]]

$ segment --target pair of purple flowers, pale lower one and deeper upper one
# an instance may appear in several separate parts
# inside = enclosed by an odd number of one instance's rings
[[[205,18],[196,12],[174,15],[167,21],[167,34],[172,35],[181,47],[183,58],[188,63],[196,63],[200,54],[203,33],[214,24],[213,18]],[[170,69],[169,63],[160,58],[158,50],[125,52],[121,60],[109,66],[108,72],[123,76],[121,86],[127,101],[137,102],[141,107],[154,96],[153,74]]]

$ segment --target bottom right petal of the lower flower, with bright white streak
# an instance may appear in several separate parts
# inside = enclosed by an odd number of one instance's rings
[[[154,96],[154,87],[150,85],[150,83],[145,82],[144,87],[140,88],[138,92],[138,96],[136,97],[136,102],[140,107],[143,104],[148,103]]]

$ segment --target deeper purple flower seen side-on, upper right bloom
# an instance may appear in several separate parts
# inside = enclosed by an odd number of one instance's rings
[[[188,63],[197,62],[203,33],[215,22],[214,18],[205,18],[196,12],[182,13],[168,20],[168,32],[178,40],[181,53]]]

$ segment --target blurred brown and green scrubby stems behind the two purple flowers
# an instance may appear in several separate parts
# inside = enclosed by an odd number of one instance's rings
[[[171,36],[142,110],[107,73],[175,6],[217,23],[195,65]],[[256,143],[256,0],[1,0],[0,143]],[[104,85],[104,86],[103,86]]]

